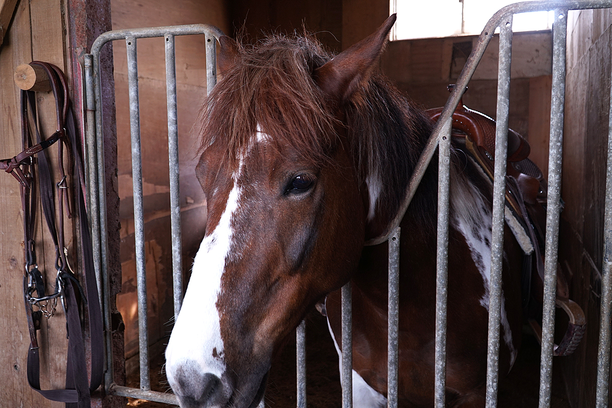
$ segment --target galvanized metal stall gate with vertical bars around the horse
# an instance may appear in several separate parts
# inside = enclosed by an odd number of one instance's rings
[[[493,186],[493,232],[491,242],[490,307],[488,328],[487,363],[487,407],[497,406],[498,392],[498,353],[501,321],[501,270],[502,238],[504,228],[504,191],[507,157],[507,133],[510,97],[510,58],[512,55],[512,18],[515,13],[554,10],[553,24],[553,91],[551,97],[550,152],[548,168],[548,211],[545,245],[545,280],[542,319],[542,357],[540,363],[540,408],[550,407],[553,362],[554,308],[556,297],[556,275],[558,259],[559,217],[561,213],[561,166],[562,137],[564,124],[565,98],[565,50],[567,31],[567,12],[581,9],[609,9],[612,0],[590,1],[526,1],[506,6],[495,13],[480,34],[472,50],[457,86],[447,100],[444,110],[436,124],[427,146],[409,182],[402,211],[409,206],[420,178],[427,168],[436,148],[439,151],[438,180],[438,267],[436,287],[436,346],[435,346],[435,407],[444,407],[446,383],[446,292],[447,257],[449,239],[449,163],[450,132],[452,113],[457,108],[463,92],[471,79],[494,32],[499,28],[499,70],[497,95],[496,154]],[[91,54],[85,56],[87,132],[86,155],[88,171],[88,205],[91,214],[91,228],[94,242],[95,271],[100,299],[103,303],[105,325],[105,384],[106,391],[112,395],[151,401],[177,404],[176,396],[169,393],[152,391],[149,380],[149,355],[147,336],[146,273],[144,255],[144,213],[143,188],[140,157],[140,111],[138,102],[138,64],[136,61],[136,39],[163,37],[166,56],[166,94],[168,104],[168,145],[170,150],[170,200],[171,231],[173,253],[174,316],[181,309],[182,268],[181,268],[181,226],[179,206],[179,164],[177,149],[177,108],[176,72],[174,63],[174,37],[176,35],[203,34],[206,37],[207,92],[216,83],[215,39],[222,32],[206,24],[170,26],[159,28],[126,29],[106,32],[95,40]],[[113,382],[113,356],[111,352],[110,295],[108,283],[108,248],[106,241],[105,207],[105,163],[102,127],[102,95],[100,86],[99,58],[102,46],[114,40],[127,43],[127,61],[130,100],[130,133],[132,140],[132,176],[134,191],[134,218],[136,237],[136,275],[138,289],[138,328],[140,347],[140,389],[122,387]],[[612,89],[612,87],[611,87]],[[605,193],[605,223],[603,243],[601,317],[599,333],[599,359],[597,363],[597,388],[595,406],[608,406],[610,387],[610,321],[612,317],[612,94],[611,115],[608,133],[608,164]],[[398,265],[400,229],[391,231],[389,236],[368,245],[389,241],[389,339],[388,339],[388,393],[387,404],[397,407],[398,393]],[[351,283],[342,288],[342,406],[353,405],[352,391],[352,335],[351,335]],[[305,324],[299,325],[297,336],[297,407],[306,407],[306,368],[305,368]],[[263,406],[263,402],[260,404]]]

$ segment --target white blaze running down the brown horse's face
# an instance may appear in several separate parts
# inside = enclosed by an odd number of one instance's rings
[[[233,175],[234,187],[219,223],[211,234],[204,237],[193,261],[181,313],[166,348],[166,373],[170,384],[174,384],[173,374],[184,365],[218,377],[225,373],[217,298],[225,260],[232,245],[231,219],[241,197],[241,188],[237,185],[241,170],[242,160]]]

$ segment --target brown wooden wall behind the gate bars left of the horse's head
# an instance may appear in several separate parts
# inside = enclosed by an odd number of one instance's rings
[[[226,8],[220,0],[140,2],[112,0],[113,29],[206,23],[228,31]],[[140,123],[143,157],[145,251],[149,342],[170,335],[173,310],[170,232],[170,181],[164,41],[140,39],[138,44]],[[185,287],[195,252],[204,236],[206,201],[195,177],[197,137],[191,127],[206,98],[204,36],[176,37],[177,109],[183,271]],[[121,294],[117,307],[125,323],[125,355],[138,352],[138,309],[133,224],[132,156],[125,42],[114,43],[115,103],[118,132],[118,192],[121,222]],[[159,350],[163,351],[163,343]],[[156,349],[157,350],[157,349]]]

